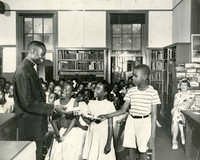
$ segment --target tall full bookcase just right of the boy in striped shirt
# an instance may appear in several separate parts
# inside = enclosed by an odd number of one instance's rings
[[[149,48],[150,53],[150,84],[158,91],[161,99],[160,114],[170,118],[173,105],[174,88],[176,84],[175,65],[176,52],[174,48]]]

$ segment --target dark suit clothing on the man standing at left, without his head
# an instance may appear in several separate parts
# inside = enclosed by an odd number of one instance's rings
[[[30,60],[24,59],[17,67],[13,84],[15,112],[21,114],[18,123],[21,139],[41,138],[47,132],[47,115],[53,105],[45,103],[45,93]]]

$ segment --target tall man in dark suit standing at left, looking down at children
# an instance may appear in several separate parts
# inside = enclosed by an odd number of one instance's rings
[[[36,142],[37,160],[42,158],[44,137],[48,131],[48,115],[55,108],[46,104],[45,93],[34,66],[44,61],[46,47],[39,41],[28,45],[28,55],[17,67],[14,75],[15,112],[20,114],[18,127],[20,140]]]

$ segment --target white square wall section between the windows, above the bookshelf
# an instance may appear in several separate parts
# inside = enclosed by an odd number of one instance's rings
[[[58,19],[59,47],[106,47],[106,12],[60,11]]]

